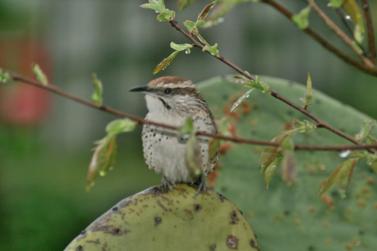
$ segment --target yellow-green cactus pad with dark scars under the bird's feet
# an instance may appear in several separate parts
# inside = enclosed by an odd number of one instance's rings
[[[66,251],[259,250],[241,211],[207,189],[176,184],[123,199],[90,224]]]

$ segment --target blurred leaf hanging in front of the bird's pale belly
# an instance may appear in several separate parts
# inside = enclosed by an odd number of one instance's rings
[[[195,134],[191,134],[186,142],[185,160],[189,168],[190,175],[198,178],[202,175],[202,155],[199,141]]]

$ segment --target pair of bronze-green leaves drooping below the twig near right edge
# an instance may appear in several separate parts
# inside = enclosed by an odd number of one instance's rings
[[[346,197],[346,191],[351,181],[353,169],[356,166],[359,158],[350,158],[340,164],[337,169],[330,175],[325,185],[319,192],[319,196],[322,196],[331,186],[336,184],[336,188],[340,195],[340,198]]]

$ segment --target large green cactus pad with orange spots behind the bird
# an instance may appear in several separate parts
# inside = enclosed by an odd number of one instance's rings
[[[293,118],[310,120],[257,90],[235,113],[230,113],[233,103],[248,88],[228,79],[209,79],[198,84],[198,88],[215,118],[227,117],[231,131],[238,137],[271,140],[282,134],[279,127],[286,129]],[[299,97],[307,93],[305,85],[271,77],[260,79],[302,105]],[[311,113],[351,136],[359,133],[363,120],[373,120],[317,90],[311,103],[313,106],[308,107]],[[293,141],[306,145],[350,144],[322,128],[294,135]],[[331,173],[347,160],[345,153],[295,151],[297,178],[293,186],[284,183],[278,167],[267,189],[264,175],[259,171],[264,146],[223,142],[222,149],[228,150],[220,156],[217,176],[212,177],[211,183],[243,211],[258,236],[261,250],[377,250],[377,175],[365,160],[356,164],[346,198],[342,200],[336,186],[320,198],[319,192]]]

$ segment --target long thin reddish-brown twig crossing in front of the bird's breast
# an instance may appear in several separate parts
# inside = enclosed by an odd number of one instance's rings
[[[11,77],[11,79],[14,80],[14,81],[20,81],[20,82],[25,83],[25,84],[33,85],[37,88],[41,88],[41,89],[44,89],[46,91],[50,91],[52,93],[58,94],[59,96],[66,97],[70,100],[74,100],[75,102],[81,103],[81,104],[86,105],[86,106],[90,106],[90,107],[95,108],[95,109],[102,110],[106,113],[110,113],[110,114],[113,114],[113,115],[118,116],[118,117],[123,117],[123,118],[126,117],[126,118],[129,118],[129,119],[132,119],[132,120],[136,121],[136,123],[138,125],[148,123],[150,125],[161,126],[163,128],[167,128],[167,129],[172,129],[172,130],[178,129],[175,126],[169,126],[169,125],[162,124],[162,123],[147,121],[147,120],[144,120],[142,118],[133,116],[131,114],[127,114],[127,113],[124,113],[122,111],[115,110],[115,109],[110,108],[108,106],[98,106],[97,104],[95,104],[93,102],[89,102],[87,100],[81,99],[80,97],[76,97],[72,94],[66,93],[65,91],[60,90],[59,88],[57,88],[53,84],[42,85],[42,84],[40,84],[36,81],[23,78],[21,76],[15,75],[15,74],[10,73],[9,71],[3,70],[1,68],[0,68],[0,70],[2,70],[3,72],[7,72],[9,74],[9,76]],[[264,145],[264,146],[280,146],[280,144],[277,143],[277,142],[255,140],[255,139],[241,138],[241,137],[229,137],[229,136],[224,136],[224,135],[219,135],[219,134],[210,134],[210,133],[206,133],[206,132],[196,132],[196,135],[203,135],[203,136],[207,136],[207,137],[218,138],[218,139],[222,139],[222,140],[228,140],[228,141],[232,141],[232,142],[235,142],[235,143],[246,143],[246,144],[252,144],[252,145]],[[343,146],[296,145],[295,149],[297,149],[297,150],[311,150],[311,151],[314,151],[314,150],[317,150],[317,151],[345,151],[345,150],[357,150],[357,149],[377,149],[377,144],[343,145]]]

